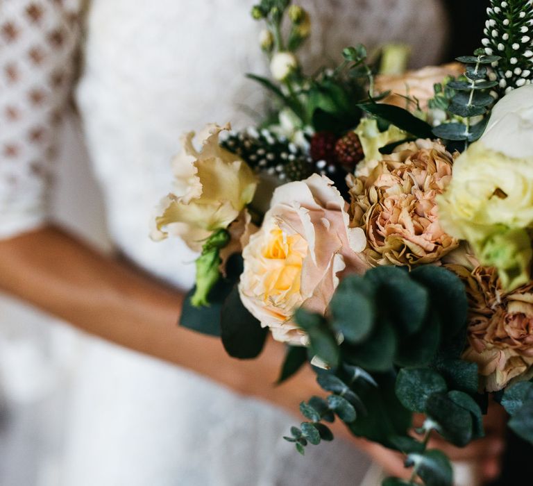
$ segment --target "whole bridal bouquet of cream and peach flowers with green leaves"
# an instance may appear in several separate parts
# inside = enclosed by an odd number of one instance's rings
[[[310,364],[326,395],[287,441],[303,454],[339,419],[405,453],[411,480],[387,486],[451,485],[428,439],[482,437],[489,394],[533,442],[532,2],[492,0],[472,56],[407,73],[402,47],[359,45],[309,76],[307,12],[252,14],[271,114],[185,135],[155,220],[199,252],[181,324],[235,358],[286,343],[280,381]]]

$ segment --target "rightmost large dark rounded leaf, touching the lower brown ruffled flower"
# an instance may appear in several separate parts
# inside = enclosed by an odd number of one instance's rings
[[[468,299],[464,283],[452,271],[434,265],[423,265],[411,272],[411,278],[430,294],[430,307],[441,316],[443,334],[453,336],[466,326]]]

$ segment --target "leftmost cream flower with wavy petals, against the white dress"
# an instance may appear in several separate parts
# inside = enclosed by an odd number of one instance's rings
[[[183,150],[172,162],[174,192],[160,203],[153,239],[162,240],[169,232],[198,251],[206,238],[228,228],[252,201],[257,186],[252,169],[219,145],[219,133],[229,129],[206,126],[199,136],[199,151],[194,132],[182,137]]]

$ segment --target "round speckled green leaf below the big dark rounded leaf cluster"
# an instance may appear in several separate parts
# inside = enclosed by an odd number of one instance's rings
[[[429,368],[403,368],[396,378],[396,396],[405,408],[413,412],[424,412],[428,398],[447,389],[444,378]]]

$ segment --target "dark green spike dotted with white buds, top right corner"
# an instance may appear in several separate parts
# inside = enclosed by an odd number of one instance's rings
[[[498,55],[493,71],[499,96],[533,80],[533,1],[491,0],[482,44],[487,55]]]

